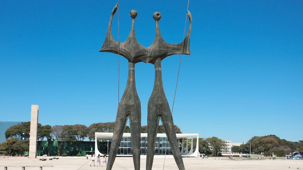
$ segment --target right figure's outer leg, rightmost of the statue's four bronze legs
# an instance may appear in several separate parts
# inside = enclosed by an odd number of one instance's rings
[[[174,155],[174,159],[178,165],[179,170],[185,170],[183,159],[181,156],[181,152],[178,145],[177,136],[174,129],[174,121],[171,116],[170,107],[168,103],[159,110],[161,113],[161,121],[165,129],[166,136],[168,136],[168,141],[170,142],[170,148],[172,151],[172,154]]]

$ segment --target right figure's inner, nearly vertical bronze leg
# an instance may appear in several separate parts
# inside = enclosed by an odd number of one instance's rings
[[[155,155],[155,143],[157,137],[157,129],[159,125],[159,117],[157,107],[148,104],[147,108],[147,154],[146,154],[146,170],[152,169],[152,163]]]

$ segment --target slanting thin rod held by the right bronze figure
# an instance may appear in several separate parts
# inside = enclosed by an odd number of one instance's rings
[[[188,0],[188,2],[187,2],[187,10],[186,10],[186,17],[185,17],[185,24],[184,24],[184,32],[183,32],[183,38],[182,38],[182,51],[181,51],[181,54],[180,54],[178,76],[177,76],[176,88],[175,88],[175,93],[174,93],[174,101],[173,101],[173,106],[172,106],[172,108],[171,108],[170,124],[171,124],[171,120],[173,119],[173,110],[174,110],[174,103],[175,103],[176,92],[177,92],[177,86],[178,86],[178,81],[179,81],[179,73],[180,73],[180,67],[181,67],[181,59],[182,59],[182,53],[183,53],[183,50],[184,50],[184,41],[183,41],[183,40],[184,40],[184,37],[185,37],[185,29],[186,29],[187,15],[188,15],[188,13],[187,13],[188,7],[189,7],[189,0]],[[169,136],[170,136],[170,124],[169,124],[169,130],[168,130],[167,141],[169,141]],[[173,127],[173,128],[174,128],[174,127]],[[164,155],[163,170],[164,170],[164,166],[165,166],[166,151],[167,151],[167,145],[165,145],[165,155]]]

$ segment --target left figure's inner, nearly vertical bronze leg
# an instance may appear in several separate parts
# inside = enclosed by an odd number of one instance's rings
[[[135,170],[140,170],[140,138],[141,138],[141,106],[134,106],[134,111],[129,116],[131,142],[133,150],[133,164]]]

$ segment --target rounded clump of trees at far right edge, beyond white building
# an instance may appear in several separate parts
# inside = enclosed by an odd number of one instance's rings
[[[303,140],[299,142],[290,142],[280,139],[276,135],[255,136],[241,146],[233,146],[232,152],[249,153],[251,145],[251,153],[263,154],[269,156],[271,152],[278,156],[288,155],[293,151],[303,150]]]

